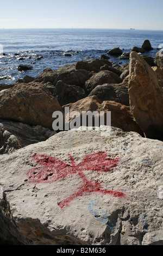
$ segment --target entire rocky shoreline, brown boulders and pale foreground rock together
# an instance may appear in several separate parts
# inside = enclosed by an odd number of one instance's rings
[[[24,76],[12,85],[0,84],[0,243],[162,244],[163,57],[159,52],[155,59],[139,54],[151,50],[146,40],[130,53],[120,48],[108,52],[129,59],[123,66],[101,56],[58,70],[47,68],[36,78]],[[52,114],[60,111],[64,116],[65,107],[80,115],[111,111],[111,135],[104,138],[96,129],[80,127],[54,131]],[[120,164],[107,172],[93,172],[89,166],[84,173],[67,173],[65,168],[76,166],[72,160],[68,163],[68,154],[79,165],[86,155],[100,152]],[[54,179],[57,182],[30,180],[30,168],[45,171],[37,168],[35,154],[48,156],[43,166],[52,176],[55,157],[68,164],[59,168],[63,172]],[[46,165],[49,156],[51,167]],[[91,161],[99,163],[98,157]],[[84,190],[85,182],[90,182],[89,190]],[[105,189],[98,189],[103,193],[96,193],[97,184],[103,184]],[[125,197],[108,195],[112,190],[123,191]],[[62,209],[58,202],[66,198],[73,199]]]

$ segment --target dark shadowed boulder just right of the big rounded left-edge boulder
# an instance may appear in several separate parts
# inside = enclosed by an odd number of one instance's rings
[[[54,87],[53,96],[58,100],[61,106],[71,102],[76,102],[86,97],[84,89],[79,86],[67,85],[58,81]]]

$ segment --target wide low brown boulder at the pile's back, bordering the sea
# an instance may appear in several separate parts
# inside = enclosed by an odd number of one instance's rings
[[[85,69],[87,71],[99,72],[101,66],[108,65],[112,66],[112,63],[107,59],[91,59],[89,61],[79,61],[76,63],[76,69]]]

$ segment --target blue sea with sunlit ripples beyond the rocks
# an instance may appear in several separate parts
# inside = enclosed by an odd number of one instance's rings
[[[163,31],[137,29],[0,29],[0,83],[14,84],[24,76],[39,76],[46,68],[57,70],[60,66],[79,60],[100,58],[109,50],[120,47],[130,52],[141,47],[148,39],[153,47],[145,52],[155,58],[163,44]],[[2,54],[3,52],[3,54]],[[113,65],[124,65],[129,60],[109,56]],[[20,65],[32,70],[18,71]]]

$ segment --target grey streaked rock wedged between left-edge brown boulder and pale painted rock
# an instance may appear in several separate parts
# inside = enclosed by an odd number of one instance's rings
[[[11,153],[13,150],[27,145],[46,141],[56,132],[41,125],[29,126],[27,124],[12,121],[0,123],[0,154]]]

